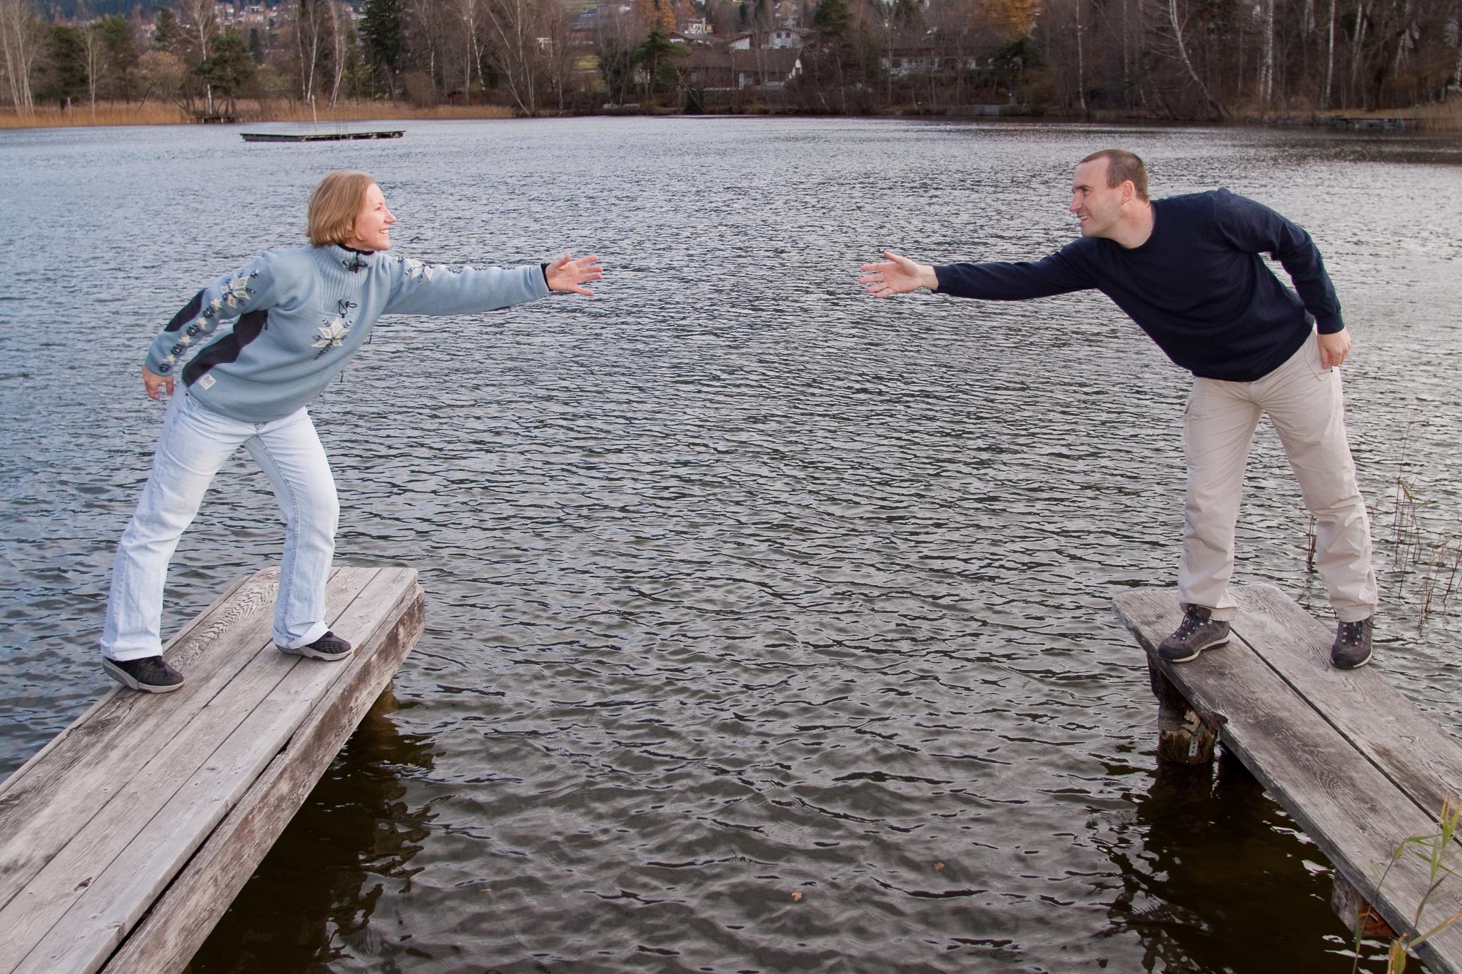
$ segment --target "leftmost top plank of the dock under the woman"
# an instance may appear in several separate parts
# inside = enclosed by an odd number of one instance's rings
[[[278,572],[260,572],[234,594],[215,602],[196,625],[168,643],[168,659],[184,670],[181,691],[158,697],[115,688],[75,721],[44,761],[28,761],[6,781],[0,797],[0,910],[69,844],[111,800],[126,777],[115,770],[140,768],[177,737],[221,686],[243,669],[259,647],[238,644],[273,613]],[[260,622],[263,621],[263,622]],[[86,800],[57,800],[60,791]],[[0,914],[3,916],[3,914]],[[0,920],[3,923],[3,920]],[[7,937],[9,940],[9,937]],[[0,970],[7,970],[0,962]]]

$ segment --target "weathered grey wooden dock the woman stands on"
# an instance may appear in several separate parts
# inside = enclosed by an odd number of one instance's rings
[[[336,568],[338,663],[285,656],[276,571],[168,644],[187,683],[115,688],[0,784],[0,973],[183,970],[421,634],[411,568]]]

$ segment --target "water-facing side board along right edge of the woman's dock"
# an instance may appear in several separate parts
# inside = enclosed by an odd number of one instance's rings
[[[341,683],[310,713],[288,748],[127,936],[107,962],[107,974],[156,974],[187,965],[361,717],[389,686],[425,622],[425,597],[415,584],[415,571],[395,571],[408,584],[401,586],[385,621],[364,641]]]

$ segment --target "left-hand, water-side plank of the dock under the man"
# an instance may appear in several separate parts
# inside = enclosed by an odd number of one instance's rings
[[[1181,616],[1170,591],[1126,593],[1117,613],[1155,657],[1156,644]],[[1428,818],[1364,759],[1251,645],[1237,637],[1181,666],[1158,663],[1184,698],[1219,727],[1221,739],[1300,824],[1330,863],[1395,929],[1427,895],[1420,863],[1402,860],[1377,889],[1376,869],[1409,835],[1434,831]],[[1440,916],[1462,908],[1462,895],[1434,900]],[[1440,974],[1462,971],[1462,929],[1452,927],[1418,949]]]

